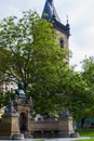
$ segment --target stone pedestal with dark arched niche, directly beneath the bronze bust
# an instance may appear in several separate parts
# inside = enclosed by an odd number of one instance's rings
[[[31,103],[27,100],[23,102],[22,98],[16,97],[14,100],[14,107],[19,114],[19,131],[24,134],[29,134],[30,131],[30,111],[31,111]]]

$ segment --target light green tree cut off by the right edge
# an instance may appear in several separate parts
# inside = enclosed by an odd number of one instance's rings
[[[82,61],[82,72],[81,72],[82,79],[85,81],[86,87],[90,89],[89,92],[89,100],[92,98],[90,101],[90,108],[88,108],[89,112],[89,117],[94,117],[94,57],[90,56],[89,59],[85,57]],[[88,116],[86,116],[88,117]]]

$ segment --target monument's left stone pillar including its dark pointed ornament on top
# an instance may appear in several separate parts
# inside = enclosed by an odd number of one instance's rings
[[[12,139],[14,136],[21,137],[18,118],[19,115],[14,108],[13,101],[10,100],[0,120],[0,139]]]

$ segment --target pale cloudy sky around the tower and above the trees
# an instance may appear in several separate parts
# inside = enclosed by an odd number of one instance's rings
[[[10,15],[22,16],[23,11],[42,13],[45,0],[0,0],[0,21]],[[77,64],[84,56],[94,54],[94,0],[54,0],[58,16],[66,24],[69,17],[71,36],[69,49],[72,51],[70,64]]]

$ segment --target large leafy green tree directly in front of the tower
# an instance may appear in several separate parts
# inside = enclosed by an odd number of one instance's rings
[[[59,48],[51,22],[35,12],[0,23],[0,72],[5,81],[23,80],[37,113],[53,115],[63,106],[63,81],[68,72],[67,49]],[[4,64],[4,65],[3,65]]]

